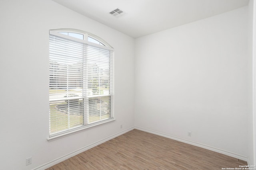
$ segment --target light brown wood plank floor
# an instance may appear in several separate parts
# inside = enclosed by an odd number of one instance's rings
[[[247,162],[134,129],[47,170],[221,170]]]

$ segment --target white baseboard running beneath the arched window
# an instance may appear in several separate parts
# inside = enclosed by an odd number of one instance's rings
[[[62,161],[64,161],[64,160],[66,160],[66,159],[68,159],[68,158],[71,158],[72,156],[75,156],[75,155],[77,155],[77,154],[80,154],[80,153],[82,153],[82,152],[84,152],[84,151],[86,151],[86,150],[88,150],[88,149],[91,149],[91,148],[93,148],[93,147],[96,147],[97,145],[100,145],[100,144],[102,144],[102,143],[104,143],[104,142],[106,142],[106,141],[109,141],[110,139],[114,139],[115,137],[118,137],[118,136],[120,136],[120,135],[122,135],[122,134],[124,134],[124,133],[126,133],[126,132],[128,132],[128,131],[131,131],[132,129],[134,129],[134,127],[131,127],[131,128],[129,128],[129,129],[126,129],[126,130],[121,131],[121,132],[119,132],[119,133],[116,133],[116,134],[114,134],[114,135],[111,135],[110,137],[107,137],[107,138],[102,139],[102,140],[100,140],[100,141],[97,141],[97,142],[95,142],[95,143],[92,143],[91,145],[88,145],[88,146],[86,146],[86,147],[83,147],[83,148],[81,148],[81,149],[78,149],[78,150],[76,150],[76,151],[74,151],[74,152],[71,152],[70,154],[67,154],[67,155],[62,156],[62,157],[60,157],[60,158],[57,158],[57,159],[55,159],[55,160],[53,160],[53,161],[50,161],[50,162],[48,162],[48,163],[46,163],[46,164],[44,164],[44,165],[42,165],[42,166],[38,166],[37,168],[34,168],[33,170],[45,170],[45,169],[47,169],[47,168],[50,168],[51,166],[54,166],[55,164],[58,164],[58,163],[60,163],[60,162],[62,162]]]

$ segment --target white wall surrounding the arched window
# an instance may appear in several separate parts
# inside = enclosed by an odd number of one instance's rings
[[[58,28],[114,47],[116,121],[48,142],[49,29]],[[0,1],[0,80],[0,169],[30,170],[134,127],[134,39],[51,0]]]

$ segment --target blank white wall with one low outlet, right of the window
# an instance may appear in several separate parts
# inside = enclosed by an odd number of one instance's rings
[[[246,159],[247,24],[246,6],[136,39],[135,126]]]

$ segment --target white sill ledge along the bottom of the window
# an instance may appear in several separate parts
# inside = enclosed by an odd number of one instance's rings
[[[106,123],[110,123],[112,121],[115,121],[116,119],[108,119],[106,121],[102,121],[100,123],[96,123],[96,124],[92,124],[92,125],[87,125],[86,127],[82,127],[82,128],[79,128],[79,129],[76,129],[74,131],[69,131],[69,132],[66,132],[66,133],[62,133],[60,135],[56,135],[56,136],[52,136],[52,137],[48,137],[47,140],[48,142],[51,142],[51,141],[54,141],[56,139],[60,139],[60,138],[63,138],[63,137],[67,137],[67,136],[70,136],[70,135],[73,135],[73,134],[76,134],[76,133],[79,133],[80,131],[84,131],[86,129],[90,129],[92,127],[96,127],[96,126],[100,126],[100,125],[104,125]]]

